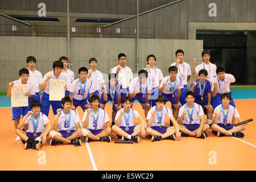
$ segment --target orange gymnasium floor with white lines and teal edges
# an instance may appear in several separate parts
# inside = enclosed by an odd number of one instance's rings
[[[256,170],[256,90],[250,90],[248,95],[245,94],[247,91],[233,92],[241,119],[254,119],[246,125],[245,138],[218,138],[208,130],[206,139],[184,137],[180,141],[151,142],[147,137],[141,139],[139,144],[115,144],[117,137],[112,134],[110,143],[85,143],[82,139],[80,147],[47,144],[39,151],[24,150],[22,142],[14,140],[16,135],[11,121],[11,107],[6,106],[9,104],[7,98],[1,96],[0,170]],[[169,102],[167,106],[170,107]],[[141,105],[135,103],[134,109],[144,118]],[[81,108],[78,110],[82,118]],[[111,117],[110,105],[106,105],[106,110]],[[51,109],[48,118],[53,123],[55,117]]]

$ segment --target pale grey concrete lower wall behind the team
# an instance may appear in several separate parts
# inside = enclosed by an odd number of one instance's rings
[[[31,36],[0,36],[0,92],[6,92],[10,81],[18,79],[20,68],[27,67],[26,57],[35,56],[38,69],[44,75],[52,70],[52,63],[61,56],[67,56],[67,39],[62,37],[31,37]],[[201,60],[202,40],[171,40],[171,39],[140,39],[139,69],[146,67],[147,55],[156,56],[156,67],[168,75],[168,67],[173,63],[175,51],[183,49],[185,62],[192,68],[193,58]],[[71,39],[71,70],[78,78],[78,69],[89,68],[89,59],[96,57],[97,68],[107,76],[110,69],[118,65],[118,54],[125,53],[127,66],[136,73],[136,39],[128,38],[72,38]],[[200,61],[198,61],[200,62]],[[200,63],[199,63],[200,64]],[[192,77],[189,84],[196,77]]]

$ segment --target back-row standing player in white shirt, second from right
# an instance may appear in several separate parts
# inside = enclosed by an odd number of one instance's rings
[[[176,62],[172,63],[171,67],[175,66],[178,68],[177,76],[179,76],[183,81],[184,88],[181,89],[180,103],[182,105],[184,105],[186,103],[185,94],[188,92],[187,84],[188,84],[188,81],[190,80],[191,68],[188,63],[185,63],[183,61],[183,59],[184,59],[184,51],[183,50],[178,49],[175,52],[175,56],[176,56]],[[172,109],[174,109],[174,108],[172,108]]]

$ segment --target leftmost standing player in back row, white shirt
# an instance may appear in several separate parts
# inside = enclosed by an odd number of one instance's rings
[[[28,81],[31,80],[36,85],[36,93],[32,100],[40,101],[40,84],[43,81],[42,73],[35,69],[36,59],[34,56],[27,57],[27,66],[28,72],[30,76],[28,77]]]

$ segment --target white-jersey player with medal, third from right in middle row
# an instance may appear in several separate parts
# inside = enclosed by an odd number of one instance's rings
[[[177,67],[172,66],[168,69],[169,75],[163,78],[159,86],[159,94],[164,96],[166,102],[170,101],[174,106],[173,114],[174,118],[177,119],[179,109],[182,106],[180,103],[181,89],[183,88],[183,82],[180,77],[177,76]],[[177,93],[175,91],[177,90]],[[172,123],[170,121],[170,126]]]

